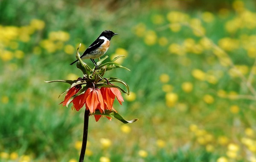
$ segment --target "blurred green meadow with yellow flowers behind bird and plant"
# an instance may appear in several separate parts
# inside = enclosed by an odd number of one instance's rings
[[[0,161],[77,162],[70,66],[106,29],[125,118],[90,118],[87,162],[256,162],[254,0],[0,0]],[[90,60],[85,60],[93,66]],[[106,76],[106,77],[108,77]]]

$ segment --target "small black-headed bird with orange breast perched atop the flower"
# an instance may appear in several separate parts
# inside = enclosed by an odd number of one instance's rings
[[[110,45],[110,40],[114,35],[118,35],[110,30],[104,30],[99,37],[84,51],[83,55],[81,55],[81,59],[89,59],[93,61],[93,64],[96,68],[98,68],[95,58],[99,58],[108,51],[108,47]],[[78,60],[74,61],[70,65],[73,65]]]

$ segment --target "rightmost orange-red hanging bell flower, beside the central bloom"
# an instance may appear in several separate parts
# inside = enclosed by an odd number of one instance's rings
[[[113,103],[115,97],[119,101],[119,103],[122,105],[122,102],[124,99],[122,98],[121,92],[119,91],[118,88],[115,87],[102,87],[100,89],[104,101],[104,107],[107,110],[112,110],[113,109]]]

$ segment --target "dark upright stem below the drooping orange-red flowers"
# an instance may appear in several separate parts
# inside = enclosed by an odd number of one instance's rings
[[[84,132],[83,132],[83,142],[82,142],[82,148],[81,148],[81,153],[79,157],[79,162],[84,161],[84,154],[86,150],[86,144],[87,144],[87,135],[88,135],[88,123],[89,123],[89,110],[85,110],[84,112]]]

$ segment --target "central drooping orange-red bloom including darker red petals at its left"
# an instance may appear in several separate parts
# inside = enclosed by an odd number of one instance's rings
[[[98,88],[88,88],[85,93],[73,99],[73,104],[77,111],[85,104],[86,110],[90,110],[90,113],[94,113],[95,110],[99,110],[100,113],[104,112],[103,103],[102,94]]]

